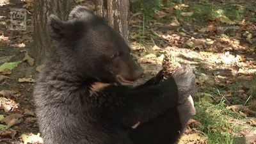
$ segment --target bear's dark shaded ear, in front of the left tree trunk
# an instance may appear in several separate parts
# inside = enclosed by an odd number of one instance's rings
[[[48,18],[48,33],[54,40],[61,40],[68,35],[68,22],[63,22],[56,15],[50,15]]]

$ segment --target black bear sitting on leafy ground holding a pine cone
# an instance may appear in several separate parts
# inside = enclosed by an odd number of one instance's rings
[[[49,17],[55,49],[34,90],[45,144],[175,143],[193,115],[190,67],[140,86],[143,69],[106,20],[77,6],[63,21]]]

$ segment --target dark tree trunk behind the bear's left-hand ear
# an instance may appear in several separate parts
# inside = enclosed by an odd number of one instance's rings
[[[40,61],[52,50],[52,41],[47,35],[47,17],[55,14],[67,20],[74,0],[35,0],[33,54]]]

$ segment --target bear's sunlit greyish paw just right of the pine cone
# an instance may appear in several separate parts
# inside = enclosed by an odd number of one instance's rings
[[[182,104],[195,89],[196,76],[189,66],[178,68],[172,76],[179,91],[179,104]]]

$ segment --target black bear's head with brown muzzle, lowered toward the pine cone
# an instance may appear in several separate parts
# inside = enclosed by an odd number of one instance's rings
[[[124,38],[86,6],[74,8],[67,21],[50,15],[48,33],[63,70],[120,84],[133,84],[143,75]]]

